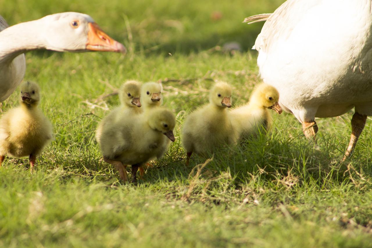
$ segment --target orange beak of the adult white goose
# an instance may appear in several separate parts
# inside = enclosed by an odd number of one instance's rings
[[[124,45],[105,34],[97,23],[90,22],[88,26],[87,50],[126,53]]]

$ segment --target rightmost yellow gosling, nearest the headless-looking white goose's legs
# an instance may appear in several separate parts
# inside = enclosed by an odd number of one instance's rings
[[[279,92],[273,86],[264,83],[257,85],[246,105],[229,111],[235,138],[245,139],[257,133],[260,127],[269,130],[272,125],[269,109],[282,113],[278,101]]]

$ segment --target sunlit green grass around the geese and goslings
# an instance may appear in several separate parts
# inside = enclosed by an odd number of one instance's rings
[[[273,112],[269,134],[185,166],[184,111],[207,101],[212,80],[232,84],[235,104],[249,99],[260,80],[248,48],[261,25],[241,20],[281,2],[0,1],[10,24],[68,10],[89,13],[132,48],[125,56],[27,54],[25,79],[41,86],[40,107],[55,140],[32,174],[26,158],[7,158],[0,169],[0,247],[372,247],[370,120],[344,163],[351,113],[317,120],[314,147],[292,115]],[[222,18],[213,21],[213,12]],[[243,53],[211,49],[230,41],[240,42]],[[178,120],[176,142],[138,184],[120,182],[94,140],[117,96],[90,104],[130,78],[164,81],[164,105]],[[2,109],[16,106],[18,97],[15,92]]]

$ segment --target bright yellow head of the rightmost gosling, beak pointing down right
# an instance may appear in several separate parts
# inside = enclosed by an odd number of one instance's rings
[[[279,92],[273,86],[262,83],[252,93],[250,102],[275,110],[278,114],[283,112],[279,105]]]

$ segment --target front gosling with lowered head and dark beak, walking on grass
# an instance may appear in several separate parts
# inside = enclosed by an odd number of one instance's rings
[[[161,158],[169,142],[174,141],[173,128],[176,125],[174,114],[164,108],[156,108],[131,119],[122,118],[115,126],[113,133],[116,142],[102,143],[102,154],[106,162],[112,163],[127,180],[125,166],[132,165],[133,179],[138,167],[155,158]],[[106,137],[102,136],[102,139]],[[119,169],[118,163],[124,170]],[[122,175],[122,173],[124,175]]]

